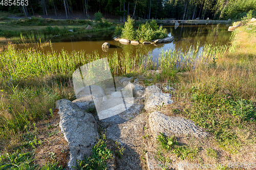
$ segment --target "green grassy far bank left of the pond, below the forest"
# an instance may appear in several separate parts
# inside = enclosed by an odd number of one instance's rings
[[[54,20],[32,17],[31,19],[9,19],[0,22],[2,43],[11,42],[39,42],[45,41],[55,35],[68,35],[86,32],[114,30],[116,23],[109,20],[96,22],[93,20]],[[92,30],[86,30],[87,26]],[[73,30],[70,32],[69,30]]]

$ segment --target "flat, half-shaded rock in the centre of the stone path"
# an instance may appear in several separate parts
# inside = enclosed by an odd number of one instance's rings
[[[129,102],[130,101],[133,102],[132,106],[129,106]],[[144,107],[143,104],[140,103],[139,100],[135,100],[134,98],[125,98],[124,102],[126,104],[126,110],[114,115],[114,116],[110,116],[108,118],[105,119],[101,119],[101,126],[103,127],[108,127],[110,125],[115,125],[115,124],[121,124],[123,122],[127,122],[128,120],[136,117],[137,115],[139,115],[142,112],[142,109]],[[102,114],[105,115],[111,115],[113,112],[116,112],[117,110],[122,110],[123,109],[123,104],[114,106],[110,109],[106,109],[104,110]]]

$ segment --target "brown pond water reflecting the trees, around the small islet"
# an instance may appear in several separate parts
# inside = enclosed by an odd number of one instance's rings
[[[227,44],[231,36],[231,32],[227,31],[228,25],[195,25],[195,23],[191,23],[180,25],[176,29],[174,25],[163,27],[167,29],[168,36],[174,36],[173,42],[150,45],[124,45],[113,40],[113,32],[106,31],[52,37],[52,48],[47,46],[42,51],[54,50],[60,52],[62,49],[68,52],[83,50],[86,53],[93,53],[97,51],[100,56],[103,53],[113,54],[115,51],[133,54],[136,54],[137,51],[137,53],[139,52],[143,55],[151,54],[153,59],[156,59],[161,51],[169,48],[176,48],[184,52],[191,45],[194,47],[199,45],[201,49],[205,44],[224,45]],[[102,51],[101,45],[104,42],[110,43],[108,52]]]

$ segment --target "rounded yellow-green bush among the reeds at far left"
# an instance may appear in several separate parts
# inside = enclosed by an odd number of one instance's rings
[[[32,63],[22,62],[20,63],[14,74],[12,75],[13,79],[28,79],[35,78],[40,76],[42,73],[41,69]]]

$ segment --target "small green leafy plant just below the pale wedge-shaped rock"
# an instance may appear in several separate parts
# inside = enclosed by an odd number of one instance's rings
[[[160,132],[160,135],[158,135],[157,140],[160,143],[160,146],[162,149],[170,151],[175,144],[177,144],[175,136],[167,137],[163,133]]]

